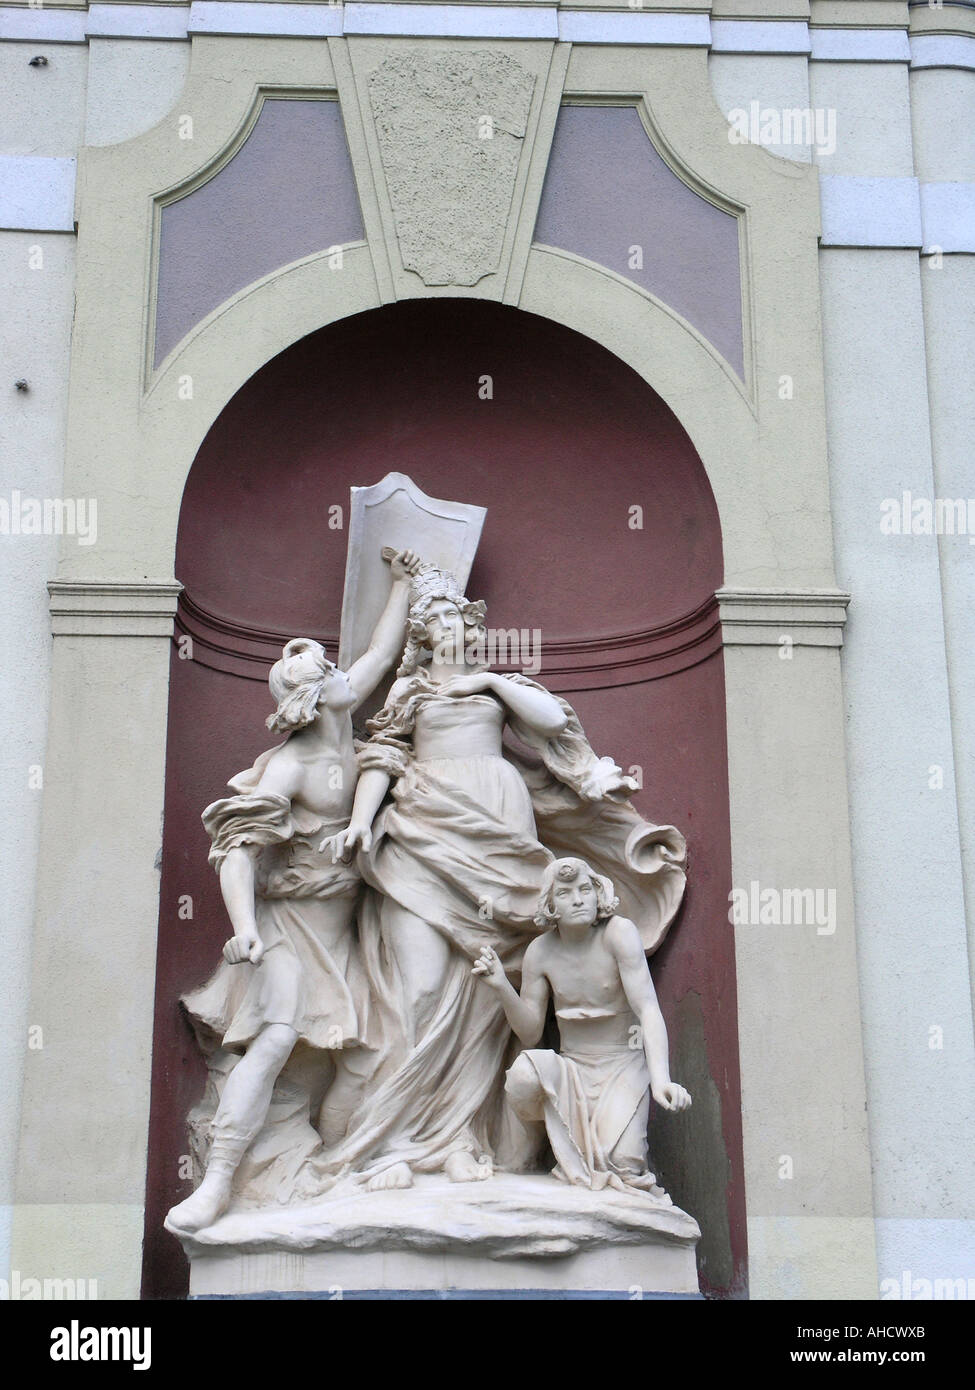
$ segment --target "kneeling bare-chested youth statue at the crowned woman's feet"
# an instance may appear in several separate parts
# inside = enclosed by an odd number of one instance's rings
[[[668,1036],[640,934],[616,916],[608,878],[581,859],[545,869],[535,922],[552,927],[524,952],[522,992],[484,947],[473,973],[490,986],[530,1051],[508,1070],[505,1094],[529,1126],[544,1126],[554,1176],[599,1190],[665,1197],[647,1168],[650,1095],[665,1111],[691,1098],[670,1080]],[[537,1049],[549,991],[562,1051]]]

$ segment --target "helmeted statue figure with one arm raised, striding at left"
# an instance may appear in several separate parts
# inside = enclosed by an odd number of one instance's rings
[[[335,863],[331,847],[320,845],[348,824],[357,777],[352,710],[402,651],[417,564],[412,550],[392,559],[385,612],[348,674],[319,642],[287,644],[268,678],[277,710],[267,726],[288,738],[231,780],[234,796],[203,812],[234,937],[225,963],[184,1004],[198,1027],[243,1056],[213,1119],[203,1182],[170,1211],[170,1230],[202,1230],[227,1209],[234,1175],[296,1044],[334,1069],[323,1138],[335,1143],[345,1133],[359,1080],[342,1054],[364,1041],[346,979],[360,880],[353,865]]]

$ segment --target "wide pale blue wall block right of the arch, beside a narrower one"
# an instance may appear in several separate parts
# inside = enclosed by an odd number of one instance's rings
[[[921,247],[915,178],[819,175],[822,246]]]

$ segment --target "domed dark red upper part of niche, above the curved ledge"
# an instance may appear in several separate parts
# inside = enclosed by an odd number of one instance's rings
[[[640,631],[722,581],[707,477],[676,466],[688,448],[636,373],[569,329],[398,304],[303,339],[229,402],[186,482],[177,574],[218,616],[337,634],[346,538],[328,507],[396,471],[488,509],[470,589],[494,626]]]

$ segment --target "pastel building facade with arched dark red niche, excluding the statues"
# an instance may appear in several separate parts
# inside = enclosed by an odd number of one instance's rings
[[[11,1269],[179,1293],[193,817],[398,468],[683,817],[702,1286],[975,1287],[975,6],[4,4],[0,63]]]

